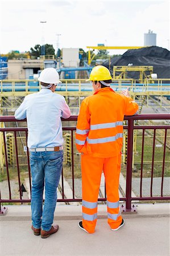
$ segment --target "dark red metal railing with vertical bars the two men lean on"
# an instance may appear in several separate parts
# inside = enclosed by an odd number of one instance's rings
[[[121,197],[121,201],[126,201],[126,209],[131,209],[131,201],[133,200],[169,200],[170,196],[164,196],[163,187],[164,187],[164,177],[165,177],[165,155],[166,151],[168,151],[167,144],[169,136],[168,132],[170,131],[169,125],[140,125],[139,121],[142,120],[168,120],[169,122],[170,114],[139,114],[134,115],[131,117],[125,117],[125,121],[127,121],[127,125],[123,127],[124,130],[127,130],[127,165],[126,165],[126,195],[125,197]],[[63,119],[63,121],[77,121],[77,115],[72,115],[68,119]],[[138,121],[138,125],[135,125],[135,121]],[[1,116],[0,122],[26,122],[24,120],[16,120],[13,116]],[[1,126],[0,126],[1,127]],[[154,180],[154,160],[155,160],[155,142],[156,142],[156,131],[157,130],[164,130],[164,144],[163,144],[163,159],[162,159],[162,168],[161,168],[161,186],[160,186],[160,195],[154,196],[153,195],[153,180]],[[71,172],[72,172],[72,198],[65,198],[65,187],[64,187],[64,175],[62,171],[61,175],[61,196],[62,198],[58,201],[60,202],[73,202],[73,201],[81,201],[81,198],[77,198],[75,196],[75,185],[74,185],[74,131],[76,130],[76,126],[64,126],[63,131],[69,131],[71,133]],[[133,158],[133,143],[134,143],[134,131],[135,130],[142,130],[142,151],[141,151],[141,167],[140,167],[140,196],[132,196],[132,158]],[[143,196],[142,189],[143,189],[143,158],[144,158],[144,137],[146,130],[153,131],[153,147],[152,147],[152,161],[151,161],[151,183],[150,183],[150,196]],[[6,133],[13,132],[14,133],[14,142],[15,142],[15,154],[16,154],[16,173],[18,179],[18,189],[19,189],[19,198],[12,198],[11,194],[11,179],[10,179],[10,172],[9,172],[9,159],[7,155],[7,144],[6,144]],[[18,146],[16,141],[16,133],[24,133],[27,139],[27,127],[1,127],[0,133],[3,134],[3,143],[4,143],[4,152],[5,152],[5,168],[6,168],[6,183],[8,186],[8,193],[9,199],[1,198],[0,193],[0,204],[1,203],[30,203],[30,199],[23,199],[22,198],[22,181],[20,178],[20,166],[18,161]],[[28,172],[28,180],[30,186],[30,193],[31,193],[31,171],[30,171],[30,160],[29,160],[29,151],[26,148],[27,154],[27,172]],[[169,154],[169,152],[168,152]],[[16,177],[15,177],[16,179]],[[1,181],[1,180],[0,180]],[[1,188],[2,190],[2,188]],[[106,189],[105,189],[106,191]],[[102,198],[98,198],[98,201],[106,201],[106,192],[105,196]]]

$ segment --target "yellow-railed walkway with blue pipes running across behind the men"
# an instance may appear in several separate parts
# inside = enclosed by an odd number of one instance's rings
[[[61,81],[62,84],[57,85],[56,92],[93,92],[92,84],[86,79],[61,79]],[[131,94],[137,95],[146,95],[147,92],[152,92],[153,95],[169,95],[169,84],[170,79],[146,79],[142,83],[135,79],[112,79],[111,88],[119,92],[122,88],[128,87]],[[23,96],[38,92],[40,89],[38,80],[0,80],[0,92],[4,95],[22,93]]]

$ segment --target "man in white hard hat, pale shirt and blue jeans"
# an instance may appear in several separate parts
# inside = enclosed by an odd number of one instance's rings
[[[71,111],[64,97],[54,93],[57,84],[61,82],[55,68],[45,68],[38,80],[42,90],[24,98],[15,111],[15,118],[27,118],[27,145],[32,174],[31,228],[36,236],[41,234],[42,238],[47,238],[59,229],[58,225],[52,226],[52,223],[63,166],[61,117],[69,118]]]

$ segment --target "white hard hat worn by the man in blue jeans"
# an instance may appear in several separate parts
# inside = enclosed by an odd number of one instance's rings
[[[40,82],[45,82],[45,84],[59,84],[61,82],[59,80],[59,73],[56,71],[55,68],[45,68],[40,73],[38,78]]]

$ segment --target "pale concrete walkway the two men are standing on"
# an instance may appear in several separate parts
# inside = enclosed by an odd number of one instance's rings
[[[1,216],[1,255],[169,255],[169,204],[139,204],[138,213],[123,214],[125,226],[110,230],[106,205],[98,205],[96,233],[78,228],[81,206],[58,205],[59,232],[47,239],[34,236],[31,209],[9,206]]]

